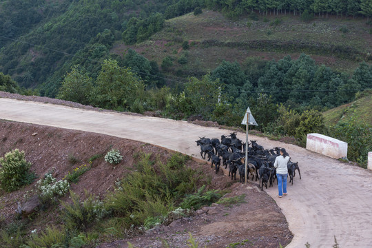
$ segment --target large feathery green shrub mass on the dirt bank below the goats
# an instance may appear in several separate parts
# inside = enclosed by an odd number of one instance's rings
[[[136,171],[116,183],[116,190],[105,199],[107,209],[125,216],[130,225],[155,225],[174,209],[182,196],[196,188],[196,172],[185,167],[188,156],[174,154],[166,164],[150,160],[151,154],[139,154]]]

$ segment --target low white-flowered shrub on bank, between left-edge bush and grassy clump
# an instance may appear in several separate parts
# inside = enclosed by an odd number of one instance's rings
[[[39,189],[39,197],[43,202],[48,202],[54,196],[64,196],[70,189],[70,184],[67,180],[59,180],[53,178],[52,174],[45,174],[43,179],[37,181],[37,189]]]

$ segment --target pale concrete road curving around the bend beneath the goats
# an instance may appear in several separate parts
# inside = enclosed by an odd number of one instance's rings
[[[200,127],[185,121],[79,110],[59,105],[0,99],[0,118],[72,130],[109,134],[166,147],[200,158],[199,136],[220,138],[228,130]],[[245,141],[245,134],[238,134]],[[294,238],[287,247],[372,247],[372,172],[340,163],[306,149],[249,136],[265,148],[285,147],[300,166],[289,195],[278,198],[277,187],[265,189],[276,200]],[[278,227],[280,228],[280,227]]]

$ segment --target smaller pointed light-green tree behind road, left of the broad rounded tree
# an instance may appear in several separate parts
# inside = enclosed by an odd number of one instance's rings
[[[78,65],[74,65],[71,72],[65,75],[57,98],[88,105],[92,87],[92,79]]]

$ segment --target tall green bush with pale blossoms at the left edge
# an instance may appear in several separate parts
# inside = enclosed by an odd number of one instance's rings
[[[31,163],[25,161],[25,152],[14,149],[0,158],[0,184],[6,192],[12,192],[32,183],[36,177],[30,172]]]

